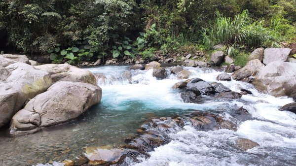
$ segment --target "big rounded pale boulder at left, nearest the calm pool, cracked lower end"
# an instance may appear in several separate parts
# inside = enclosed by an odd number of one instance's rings
[[[11,120],[10,134],[27,134],[77,118],[99,103],[102,89],[93,84],[60,81],[37,95]]]

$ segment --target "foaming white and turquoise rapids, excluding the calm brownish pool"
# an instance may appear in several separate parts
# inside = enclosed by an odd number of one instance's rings
[[[252,84],[240,81],[217,81],[222,70],[213,68],[184,67],[191,72],[189,78],[222,83],[232,91],[247,89],[253,95],[243,95],[239,100],[210,100],[202,104],[184,103],[181,92],[171,87],[181,80],[175,74],[167,79],[152,77],[152,70],[132,70],[132,84],[122,78],[128,66],[102,66],[88,68],[92,73],[103,73],[107,81],[98,82],[103,90],[104,106],[120,112],[134,114],[173,114],[201,110],[219,113],[224,119],[237,121],[238,130],[196,131],[185,126],[178,133],[171,133],[172,141],[149,152],[149,158],[139,157],[140,163],[131,166],[295,166],[296,165],[296,114],[278,109],[294,102],[291,98],[275,98],[259,92]],[[170,68],[167,68],[170,71]],[[252,120],[239,121],[230,113],[244,107]],[[100,110],[98,110],[100,111]],[[141,118],[139,115],[137,118]],[[247,151],[235,147],[238,137],[248,138],[259,146]],[[53,164],[58,166],[60,163]],[[43,166],[43,165],[37,165]]]

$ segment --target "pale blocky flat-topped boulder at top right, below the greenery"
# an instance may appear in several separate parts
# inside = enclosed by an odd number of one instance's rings
[[[274,61],[287,61],[291,53],[290,48],[266,48],[264,50],[263,64],[267,65]]]

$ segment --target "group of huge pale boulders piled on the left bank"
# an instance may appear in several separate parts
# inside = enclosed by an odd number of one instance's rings
[[[88,70],[38,65],[24,55],[0,56],[0,127],[13,135],[68,122],[101,101],[102,89]]]

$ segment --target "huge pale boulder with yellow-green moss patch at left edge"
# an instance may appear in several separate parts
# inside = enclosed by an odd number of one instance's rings
[[[0,57],[1,64],[5,67],[0,66],[0,127],[10,121],[26,100],[46,91],[52,83],[48,72],[33,66]]]

